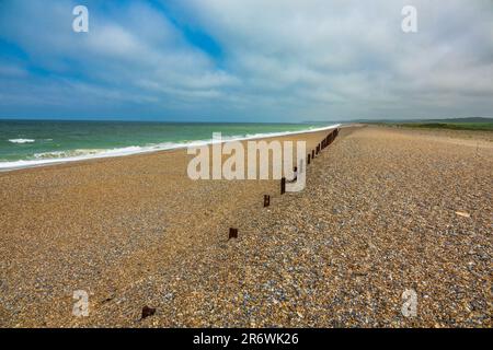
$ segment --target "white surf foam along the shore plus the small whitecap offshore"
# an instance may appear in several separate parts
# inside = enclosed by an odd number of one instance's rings
[[[254,133],[254,135],[245,135],[245,136],[226,136],[226,137],[222,137],[221,140],[210,139],[210,140],[194,140],[194,141],[187,141],[187,142],[162,142],[162,143],[149,144],[149,145],[129,145],[129,147],[124,147],[124,148],[106,149],[106,150],[103,150],[103,149],[79,149],[79,150],[44,152],[44,153],[36,153],[34,155],[34,160],[0,162],[0,171],[10,171],[10,170],[24,168],[24,167],[58,164],[58,163],[74,162],[74,161],[83,161],[83,160],[91,160],[91,159],[124,156],[124,155],[138,154],[138,153],[150,153],[150,152],[157,152],[157,151],[184,149],[184,148],[188,148],[188,147],[200,147],[200,145],[207,145],[207,144],[218,143],[218,142],[244,141],[244,140],[283,137],[283,136],[297,135],[297,133],[318,132],[318,131],[334,129],[340,126],[341,126],[340,124],[336,124],[336,125],[331,125],[331,126],[323,127],[323,128],[310,128],[310,129],[298,130],[298,131],[265,132],[265,133]],[[18,140],[24,140],[24,139],[18,139]],[[9,141],[11,141],[11,140],[9,140]],[[33,140],[33,142],[34,142],[34,140]]]

